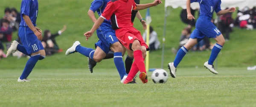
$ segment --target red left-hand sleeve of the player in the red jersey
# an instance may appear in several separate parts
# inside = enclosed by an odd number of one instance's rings
[[[108,2],[104,12],[100,17],[102,17],[105,20],[110,20],[111,16],[114,14],[117,8],[119,8],[119,4],[117,2]]]

